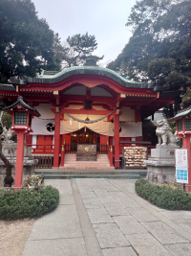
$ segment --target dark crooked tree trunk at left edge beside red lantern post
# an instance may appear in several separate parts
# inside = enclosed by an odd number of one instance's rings
[[[2,152],[2,141],[0,139],[0,158],[6,166],[6,176],[4,178],[4,187],[11,187],[13,178],[11,176],[11,162],[6,158]]]

